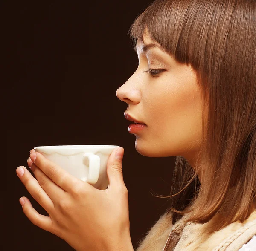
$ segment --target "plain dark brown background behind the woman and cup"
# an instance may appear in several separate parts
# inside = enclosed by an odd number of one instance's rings
[[[4,250],[73,250],[64,240],[33,225],[19,203],[28,197],[45,211],[16,175],[29,150],[41,145],[113,144],[124,147],[123,176],[129,192],[131,239],[159,219],[169,194],[174,157],[149,158],[135,150],[124,118],[127,104],[116,90],[137,68],[127,35],[151,1],[6,1],[2,38],[7,41],[3,98],[7,127],[7,179],[1,213]],[[4,174],[5,176],[6,174]],[[6,181],[6,182],[5,182]],[[7,196],[6,196],[7,195]],[[2,237],[3,237],[2,236]],[[8,239],[8,241],[7,241]]]

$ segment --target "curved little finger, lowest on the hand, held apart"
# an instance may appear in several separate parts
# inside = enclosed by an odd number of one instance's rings
[[[28,217],[28,219],[39,228],[52,232],[53,225],[51,217],[39,214],[38,211],[36,211],[35,208],[33,208],[28,198],[22,197],[22,199],[24,199],[25,201],[25,203],[22,206],[22,209],[24,214]]]

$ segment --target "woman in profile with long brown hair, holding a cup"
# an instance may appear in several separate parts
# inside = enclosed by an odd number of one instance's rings
[[[255,34],[255,0],[156,0],[132,25],[139,65],[116,95],[128,104],[126,118],[144,124],[129,127],[137,151],[151,157],[177,156],[171,195],[161,196],[170,198],[169,209],[140,240],[137,251],[237,251],[256,245]],[[39,184],[39,170],[52,165],[33,152],[28,164],[38,171]],[[99,209],[111,219],[116,216],[111,228],[103,218],[97,221],[101,214],[93,206],[81,206],[82,185],[72,207],[68,205],[79,212],[86,209],[87,216],[77,213],[70,219],[69,234],[56,227],[57,219],[69,218],[65,207],[59,211],[64,211],[62,218],[49,213],[56,218],[51,223],[55,228],[44,224],[31,204],[25,203],[23,210],[26,206],[31,220],[77,250],[133,250],[127,191],[121,196],[117,189],[124,188],[121,170],[121,161],[112,154],[109,196],[122,198],[119,208],[124,210]],[[33,179],[25,173],[22,181]],[[90,193],[115,205],[106,194]],[[81,227],[89,220],[99,224],[99,235],[93,234],[96,228]],[[72,234],[82,231],[79,237]],[[96,239],[101,245],[96,246]]]

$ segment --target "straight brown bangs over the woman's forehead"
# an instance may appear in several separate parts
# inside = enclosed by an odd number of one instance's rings
[[[198,16],[202,16],[202,8],[197,1],[189,0],[156,0],[144,10],[134,21],[129,33],[134,43],[141,40],[147,33],[152,40],[162,46],[179,63],[195,63],[200,48],[205,47],[201,40],[205,25]],[[201,44],[200,44],[201,43]],[[192,55],[192,52],[195,52]]]

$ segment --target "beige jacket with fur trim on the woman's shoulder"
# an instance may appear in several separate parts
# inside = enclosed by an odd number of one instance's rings
[[[243,223],[233,222],[213,233],[211,228],[223,217],[220,213],[204,224],[184,225],[186,217],[172,225],[172,212],[165,212],[139,241],[136,251],[238,251],[256,234],[256,211]]]

